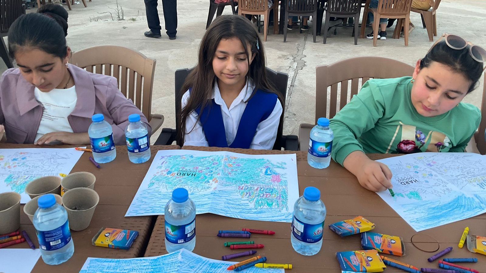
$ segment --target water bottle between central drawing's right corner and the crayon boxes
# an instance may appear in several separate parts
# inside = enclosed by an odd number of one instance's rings
[[[320,198],[318,188],[307,187],[295,202],[290,240],[298,254],[311,256],[321,250],[326,206]]]

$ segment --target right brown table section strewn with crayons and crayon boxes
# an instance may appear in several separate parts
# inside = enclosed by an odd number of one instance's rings
[[[183,147],[182,149],[202,151],[231,151],[243,154],[291,154],[289,151],[257,151],[243,149],[222,149],[207,147]],[[224,239],[216,237],[218,230],[238,230],[242,227],[256,229],[270,229],[276,232],[273,236],[252,234],[251,240],[264,244],[263,249],[258,249],[258,255],[266,256],[270,263],[292,263],[294,269],[289,272],[341,272],[335,253],[341,251],[361,250],[359,235],[345,238],[339,237],[328,228],[330,223],[351,219],[356,216],[364,216],[376,224],[374,232],[400,236],[405,244],[405,256],[389,256],[391,258],[407,262],[418,268],[438,268],[437,260],[429,263],[427,258],[434,253],[427,253],[417,249],[411,242],[412,236],[417,232],[412,229],[399,215],[374,192],[362,188],[356,178],[331,161],[330,166],[324,170],[313,169],[307,164],[307,152],[299,151],[297,155],[297,173],[299,180],[299,195],[304,188],[313,186],[321,190],[321,199],[327,207],[327,217],[324,228],[324,241],[321,251],[315,256],[302,256],[297,254],[290,243],[291,224],[282,222],[261,222],[233,219],[214,214],[200,214],[196,216],[196,247],[194,253],[213,259],[221,259],[221,256],[236,253],[229,250],[223,243],[225,241],[239,241],[248,239]],[[372,154],[372,159],[381,159],[390,154]],[[421,231],[419,235],[427,235],[438,243],[424,240],[421,247],[439,248],[439,250],[452,246],[451,254],[446,257],[476,257],[479,262],[469,265],[471,268],[486,271],[486,256],[474,254],[466,247],[459,249],[457,243],[466,226],[469,226],[469,234],[486,235],[485,214],[439,226],[433,229]],[[164,237],[164,217],[158,216],[155,222],[152,236],[147,246],[145,256],[158,256],[166,254]],[[234,259],[241,261],[244,257]],[[388,267],[385,272],[403,273],[401,270]]]

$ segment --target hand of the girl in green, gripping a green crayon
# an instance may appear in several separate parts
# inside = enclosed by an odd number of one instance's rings
[[[356,178],[363,188],[372,191],[383,191],[392,188],[392,172],[385,164],[368,159],[361,170],[357,171]]]

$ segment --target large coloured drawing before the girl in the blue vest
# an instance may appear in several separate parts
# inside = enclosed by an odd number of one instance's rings
[[[175,188],[196,213],[292,222],[299,197],[295,154],[158,151],[125,216],[163,215]]]

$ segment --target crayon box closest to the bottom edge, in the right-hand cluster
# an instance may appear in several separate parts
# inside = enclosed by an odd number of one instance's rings
[[[336,257],[343,271],[382,272],[386,268],[376,250],[338,252]]]

